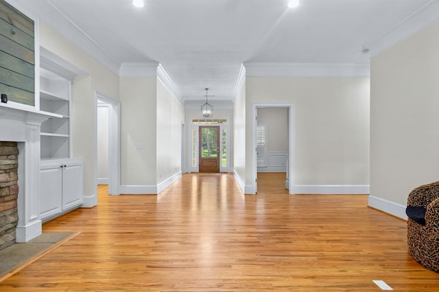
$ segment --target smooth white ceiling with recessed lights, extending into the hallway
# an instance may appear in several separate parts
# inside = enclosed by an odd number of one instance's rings
[[[182,101],[235,98],[241,64],[368,64],[365,44],[431,0],[23,0],[62,32],[75,27],[115,71],[160,62]],[[49,13],[50,12],[50,13]],[[64,23],[64,24],[63,24]]]

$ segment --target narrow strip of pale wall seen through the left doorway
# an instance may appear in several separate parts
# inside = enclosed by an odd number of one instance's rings
[[[108,184],[108,106],[97,106],[97,183]]]

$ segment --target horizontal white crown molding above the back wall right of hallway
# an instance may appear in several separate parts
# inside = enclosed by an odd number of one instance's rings
[[[244,63],[249,77],[364,77],[369,64],[351,63]]]

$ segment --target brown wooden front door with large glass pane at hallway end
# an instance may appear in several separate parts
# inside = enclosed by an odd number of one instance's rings
[[[219,126],[200,126],[200,172],[219,172]]]

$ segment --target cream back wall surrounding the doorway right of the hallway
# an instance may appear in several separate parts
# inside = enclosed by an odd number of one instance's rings
[[[369,184],[369,85],[368,77],[246,77],[246,112],[255,103],[294,103],[296,186],[364,186]],[[252,117],[246,121],[251,152]]]

